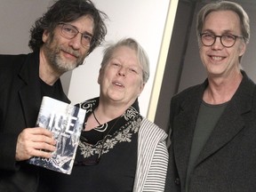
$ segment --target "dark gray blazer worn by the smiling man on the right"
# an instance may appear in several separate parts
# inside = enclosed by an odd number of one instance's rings
[[[189,192],[256,189],[256,91],[255,84],[242,73],[241,84],[198,156]],[[172,98],[166,192],[185,191],[191,143],[207,84],[206,80]]]

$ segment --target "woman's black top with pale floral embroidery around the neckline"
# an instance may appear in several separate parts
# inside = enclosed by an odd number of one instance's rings
[[[80,107],[90,116],[98,105],[99,98],[94,98],[81,103]],[[132,191],[141,120],[136,100],[122,116],[82,132],[71,175],[53,172],[49,178],[50,191]]]

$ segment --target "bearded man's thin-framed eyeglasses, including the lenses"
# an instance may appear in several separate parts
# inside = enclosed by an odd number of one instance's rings
[[[72,39],[77,36],[78,33],[82,34],[81,36],[81,44],[84,45],[85,47],[90,47],[92,44],[95,43],[95,39],[89,34],[89,33],[81,33],[78,31],[78,29],[70,24],[60,22],[59,25],[61,26],[61,35],[68,38]]]

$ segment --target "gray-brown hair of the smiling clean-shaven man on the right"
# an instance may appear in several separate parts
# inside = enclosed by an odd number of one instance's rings
[[[202,28],[204,25],[204,20],[206,16],[210,12],[216,11],[232,11],[236,12],[236,14],[240,18],[241,22],[241,31],[242,36],[244,36],[244,43],[248,44],[250,39],[250,20],[247,13],[244,11],[243,7],[240,4],[236,4],[234,2],[228,1],[217,1],[214,3],[206,4],[204,7],[198,12],[197,15],[197,26],[196,26],[196,34],[198,38],[198,42],[200,41],[200,33],[202,32]]]

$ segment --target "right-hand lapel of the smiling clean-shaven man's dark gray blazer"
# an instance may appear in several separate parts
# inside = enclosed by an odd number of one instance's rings
[[[211,156],[232,140],[244,128],[244,114],[252,110],[253,91],[255,84],[242,71],[244,77],[233,98],[229,101],[219,122],[207,140],[196,164]]]

